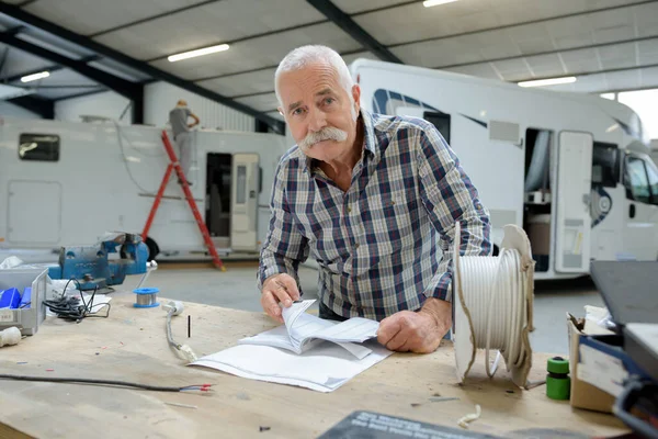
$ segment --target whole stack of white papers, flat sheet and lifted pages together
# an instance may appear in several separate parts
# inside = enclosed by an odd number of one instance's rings
[[[342,323],[305,314],[315,301],[284,308],[285,325],[238,341],[239,346],[191,363],[252,380],[331,392],[390,353],[374,340],[379,324]],[[365,342],[364,342],[365,341]]]

